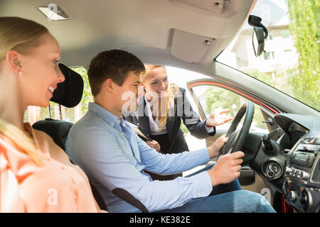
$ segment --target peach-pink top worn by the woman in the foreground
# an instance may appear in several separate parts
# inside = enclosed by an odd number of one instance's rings
[[[84,172],[53,160],[45,136],[24,126],[43,165],[0,133],[0,212],[100,212]]]

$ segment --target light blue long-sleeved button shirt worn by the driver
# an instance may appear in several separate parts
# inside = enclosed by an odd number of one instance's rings
[[[141,212],[114,195],[114,189],[129,192],[149,212],[182,206],[208,196],[212,190],[206,171],[170,181],[153,181],[143,171],[172,175],[204,165],[210,160],[207,148],[171,155],[157,153],[126,121],[95,103],[89,104],[85,116],[70,129],[65,150],[85,171],[110,212]]]

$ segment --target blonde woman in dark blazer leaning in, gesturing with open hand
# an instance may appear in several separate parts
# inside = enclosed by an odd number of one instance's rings
[[[139,98],[138,111],[124,118],[127,121],[139,123],[144,128],[152,139],[146,141],[151,148],[165,154],[189,150],[180,129],[181,119],[191,135],[200,139],[215,135],[215,126],[233,119],[222,115],[228,112],[223,110],[201,121],[186,97],[186,90],[169,83],[166,68],[163,65],[145,65],[145,67],[146,74],[142,75],[145,95]],[[149,174],[152,179],[162,180],[181,176]]]

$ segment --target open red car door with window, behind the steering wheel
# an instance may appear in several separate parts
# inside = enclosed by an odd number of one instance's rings
[[[250,100],[255,105],[255,114],[252,120],[250,133],[259,133],[261,135],[268,134],[274,131],[274,140],[281,135],[281,131],[277,132],[277,124],[273,121],[273,115],[279,113],[279,109],[267,104],[262,99],[250,94],[233,84],[220,81],[213,78],[196,79],[187,82],[188,91],[198,107],[199,116],[202,120],[208,118],[213,111],[219,109],[229,109],[230,116],[235,116],[240,109],[240,106],[245,101]],[[230,122],[222,126],[216,126],[216,134],[213,137],[206,138],[206,145],[209,146],[214,141],[227,133]],[[240,122],[240,125],[242,122]],[[211,160],[214,162],[215,160]],[[252,192],[257,192],[264,195],[272,204],[272,206],[279,205],[281,199],[277,192],[272,192],[272,187],[268,186],[268,182],[255,174],[250,167],[242,167],[239,181],[242,189],[247,189]]]

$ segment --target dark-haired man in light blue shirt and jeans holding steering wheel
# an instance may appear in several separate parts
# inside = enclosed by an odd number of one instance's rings
[[[129,52],[109,50],[94,57],[88,77],[95,102],[70,129],[65,144],[70,160],[86,172],[108,211],[274,212],[260,194],[236,190],[241,151],[221,156],[197,175],[152,181],[144,170],[171,175],[204,165],[218,155],[226,138],[208,148],[171,155],[146,145],[122,119],[124,106],[137,106],[142,73],[143,63]],[[228,193],[208,196],[228,183]]]

